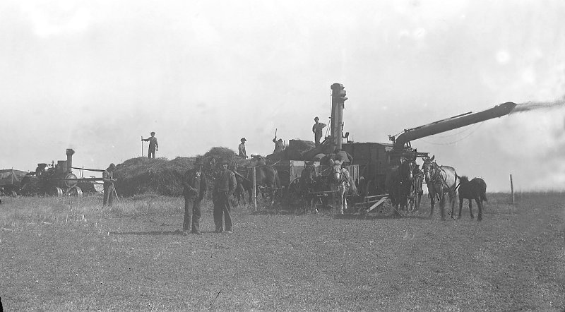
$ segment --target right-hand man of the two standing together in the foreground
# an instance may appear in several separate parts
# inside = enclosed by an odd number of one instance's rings
[[[232,206],[230,196],[234,193],[237,186],[235,174],[227,169],[227,161],[220,162],[222,169],[218,172],[214,181],[214,224],[215,232],[224,232],[223,220],[225,219],[225,232],[232,232]]]

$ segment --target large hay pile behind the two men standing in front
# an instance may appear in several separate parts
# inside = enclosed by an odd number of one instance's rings
[[[147,157],[136,157],[126,160],[116,166],[114,177],[117,179],[116,191],[120,196],[134,196],[151,193],[162,196],[182,196],[182,176],[186,170],[194,166],[197,158],[204,163],[204,174],[214,176],[216,164],[227,160],[232,164],[244,164],[249,160],[242,160],[229,148],[211,148],[206,154],[194,157],[177,157],[174,160],[157,158],[151,160]],[[209,179],[211,181],[211,179]],[[210,188],[213,187],[210,183]]]

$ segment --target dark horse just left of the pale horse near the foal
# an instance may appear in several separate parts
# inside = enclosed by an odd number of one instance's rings
[[[414,169],[415,162],[404,160],[386,175],[386,191],[388,191],[388,196],[395,208],[395,215],[400,215],[396,208],[400,208],[400,210],[408,209],[408,194],[414,180]]]

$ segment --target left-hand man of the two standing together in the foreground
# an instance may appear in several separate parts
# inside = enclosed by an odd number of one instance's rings
[[[200,218],[202,210],[200,203],[204,198],[204,194],[208,190],[208,181],[202,173],[203,163],[200,158],[194,162],[194,167],[185,172],[182,178],[182,186],[184,186],[184,222],[182,223],[182,231],[184,235],[202,234],[200,232]]]

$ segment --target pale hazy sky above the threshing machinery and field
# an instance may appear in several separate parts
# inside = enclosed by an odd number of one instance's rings
[[[0,3],[0,167],[104,169],[223,146],[313,140],[342,83],[344,131],[389,143],[439,119],[565,95],[563,1]],[[143,154],[147,155],[147,143]],[[412,142],[487,191],[565,189],[565,107]]]

